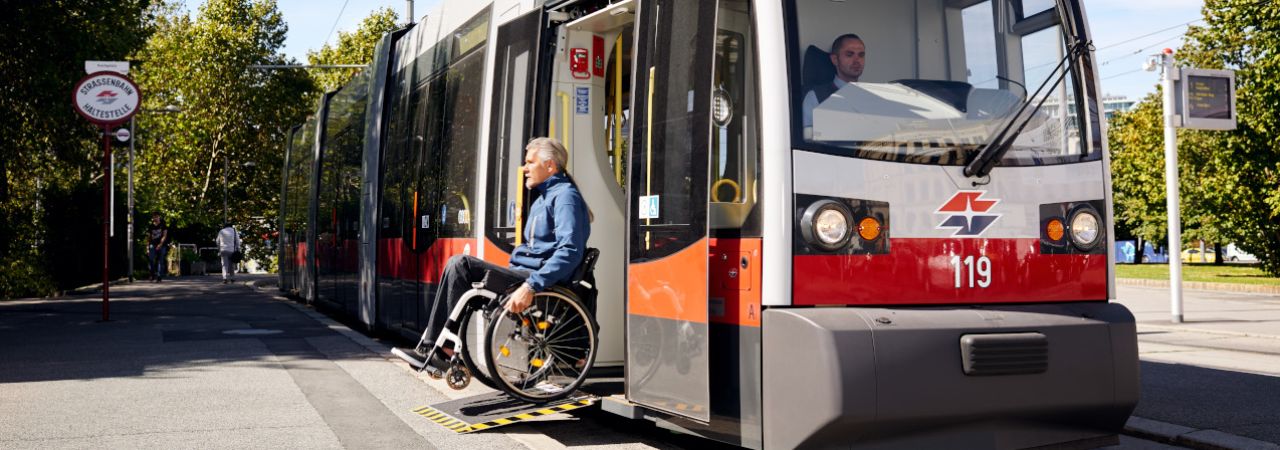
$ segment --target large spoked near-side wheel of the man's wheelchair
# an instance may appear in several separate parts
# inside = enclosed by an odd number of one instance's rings
[[[586,380],[599,344],[593,317],[561,288],[534,294],[520,314],[497,311],[485,338],[490,381],[529,403],[572,394]]]

